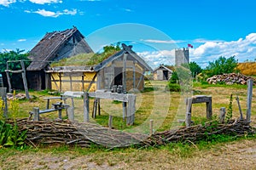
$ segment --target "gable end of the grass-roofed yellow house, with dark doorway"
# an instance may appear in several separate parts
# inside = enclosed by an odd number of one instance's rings
[[[131,88],[143,90],[144,73],[153,70],[131,50],[132,46],[123,43],[122,48],[118,53],[95,66],[97,89],[111,89],[113,85],[122,85],[125,91]]]

